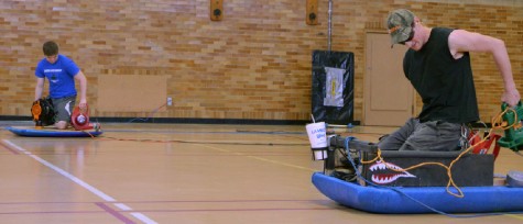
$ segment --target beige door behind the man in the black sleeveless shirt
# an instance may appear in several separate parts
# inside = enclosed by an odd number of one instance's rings
[[[414,90],[403,74],[407,47],[391,48],[386,33],[367,33],[363,124],[401,126],[414,112]]]

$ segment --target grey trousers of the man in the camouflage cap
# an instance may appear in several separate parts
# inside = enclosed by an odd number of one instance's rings
[[[378,143],[382,150],[459,150],[461,124],[442,121],[421,123],[410,119],[405,125]]]

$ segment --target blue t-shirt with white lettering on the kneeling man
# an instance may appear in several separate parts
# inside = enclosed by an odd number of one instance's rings
[[[75,76],[80,71],[75,61],[58,54],[54,64],[43,58],[36,66],[34,75],[50,81],[51,98],[65,98],[76,96]]]

